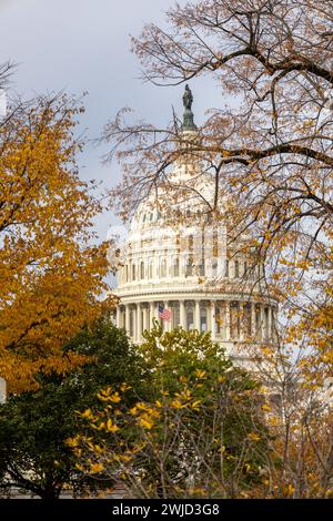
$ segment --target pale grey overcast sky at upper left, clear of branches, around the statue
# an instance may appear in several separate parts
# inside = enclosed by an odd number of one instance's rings
[[[180,3],[184,3],[181,0]],[[117,111],[129,105],[138,118],[163,125],[174,105],[182,114],[183,86],[157,88],[139,80],[140,64],[130,52],[130,34],[145,22],[164,23],[173,0],[0,0],[0,62],[19,64],[12,89],[34,93],[88,91],[82,127],[97,137]],[[195,121],[221,104],[215,85],[192,82]],[[80,160],[83,178],[120,178],[118,165],[101,166],[101,149],[88,146]],[[114,218],[104,215],[97,229],[104,238]]]

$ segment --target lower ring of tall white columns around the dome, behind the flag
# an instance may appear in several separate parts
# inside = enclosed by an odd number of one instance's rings
[[[194,300],[189,306],[186,300],[168,300],[127,304],[117,307],[115,325],[124,328],[134,341],[142,339],[142,331],[151,329],[153,320],[159,319],[159,305],[171,309],[173,313],[179,306],[179,315],[170,321],[162,320],[164,330],[181,326],[183,329],[198,329],[211,331],[213,340],[245,340],[248,337],[256,337],[259,340],[269,340],[274,336],[274,315],[271,306],[256,303],[231,303],[224,300],[201,302]],[[202,307],[205,307],[204,324],[202,323]],[[238,306],[235,310],[235,306]],[[193,310],[192,327],[189,327],[186,311]],[[219,313],[218,313],[219,309]],[[246,311],[245,311],[246,310]],[[222,313],[221,313],[222,311]],[[176,320],[175,320],[176,318]],[[203,328],[203,326],[205,326]],[[235,334],[236,330],[238,333]]]

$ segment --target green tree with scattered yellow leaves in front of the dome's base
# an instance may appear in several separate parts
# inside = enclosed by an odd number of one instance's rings
[[[155,324],[139,349],[152,395],[129,406],[130,386],[110,386],[80,415],[87,427],[69,443],[83,474],[139,498],[251,496],[269,451],[256,382],[208,334]]]

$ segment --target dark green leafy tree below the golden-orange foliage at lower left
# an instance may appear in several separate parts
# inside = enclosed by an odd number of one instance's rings
[[[97,406],[101,387],[124,380],[147,396],[149,378],[142,360],[109,318],[80,331],[65,346],[64,353],[69,350],[91,361],[65,376],[39,375],[38,390],[12,396],[0,408],[0,488],[4,492],[17,487],[43,499],[58,499],[63,489],[74,494],[95,490],[97,483],[78,472],[65,443],[80,428],[77,411]],[[129,394],[128,400],[133,403],[134,396]],[[110,484],[104,481],[98,488]]]

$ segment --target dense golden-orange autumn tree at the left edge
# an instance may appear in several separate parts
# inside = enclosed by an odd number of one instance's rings
[[[82,111],[67,95],[39,96],[12,102],[0,125],[0,375],[10,391],[81,364],[61,348],[101,310],[107,244],[94,244],[94,183],[78,174]]]

